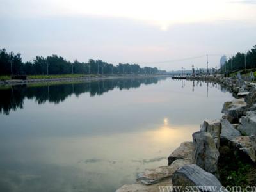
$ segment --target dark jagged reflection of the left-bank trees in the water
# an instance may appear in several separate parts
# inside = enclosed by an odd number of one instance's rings
[[[11,86],[10,88],[0,87],[0,113],[9,115],[10,111],[22,109],[24,99],[35,100],[38,104],[52,102],[58,104],[67,99],[73,93],[79,96],[82,93],[89,93],[91,97],[103,95],[110,90],[118,88],[119,90],[129,90],[130,88],[139,88],[141,84],[156,84],[167,77],[148,77],[131,79],[112,79],[104,81],[77,82],[65,84],[44,84],[41,86]]]

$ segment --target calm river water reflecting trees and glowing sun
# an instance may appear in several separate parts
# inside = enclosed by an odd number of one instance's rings
[[[115,191],[232,100],[169,77],[0,88],[0,191]]]

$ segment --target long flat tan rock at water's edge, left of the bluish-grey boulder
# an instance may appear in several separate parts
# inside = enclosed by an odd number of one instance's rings
[[[185,164],[191,164],[191,161],[186,159],[177,159],[173,161],[170,166],[160,166],[154,169],[146,169],[144,172],[138,174],[138,180],[142,184],[151,185],[168,177],[171,177],[173,173],[184,166]]]

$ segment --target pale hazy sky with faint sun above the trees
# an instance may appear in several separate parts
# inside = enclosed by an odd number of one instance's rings
[[[256,0],[0,0],[0,48],[166,70],[256,45]],[[175,61],[182,60],[182,61]],[[168,61],[168,62],[166,62]]]

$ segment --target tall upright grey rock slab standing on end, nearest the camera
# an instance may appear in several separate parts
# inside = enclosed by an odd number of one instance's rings
[[[209,132],[193,133],[193,143],[195,145],[195,162],[205,171],[218,175],[218,157],[220,156],[216,148],[213,137]]]

